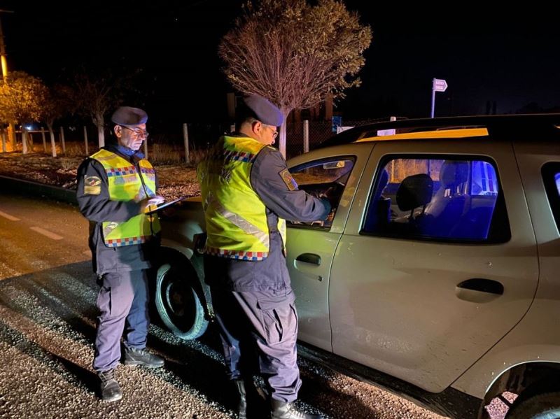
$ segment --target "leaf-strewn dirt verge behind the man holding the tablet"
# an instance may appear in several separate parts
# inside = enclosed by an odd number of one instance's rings
[[[0,175],[32,180],[46,185],[76,189],[76,171],[83,157],[50,157],[40,153],[0,153]],[[186,165],[155,165],[165,199],[195,197],[200,194],[196,170]]]

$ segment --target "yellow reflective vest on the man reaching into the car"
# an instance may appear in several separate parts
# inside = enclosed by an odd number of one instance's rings
[[[266,206],[251,187],[251,168],[267,145],[248,137],[223,136],[197,168],[206,219],[204,252],[240,260],[269,253]],[[278,219],[286,246],[286,220]]]

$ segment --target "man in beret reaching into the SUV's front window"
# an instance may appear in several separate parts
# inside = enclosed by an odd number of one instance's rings
[[[197,176],[207,225],[205,277],[239,391],[239,418],[251,417],[259,403],[257,369],[269,389],[272,419],[315,418],[293,404],[301,382],[285,220],[324,220],[330,204],[298,190],[271,147],[283,121],[279,108],[253,94],[237,119],[238,131],[219,139]]]

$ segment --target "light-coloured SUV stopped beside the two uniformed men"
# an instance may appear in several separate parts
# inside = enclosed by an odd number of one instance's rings
[[[559,126],[403,120],[290,159],[339,197],[332,222],[288,223],[300,353],[452,418],[560,418]],[[164,220],[156,304],[185,339],[212,317],[203,231],[200,202]]]

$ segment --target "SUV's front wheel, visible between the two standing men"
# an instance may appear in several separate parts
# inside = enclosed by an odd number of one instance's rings
[[[155,282],[155,307],[162,322],[175,336],[186,340],[197,339],[208,327],[189,270],[193,269],[180,263],[162,264]]]

